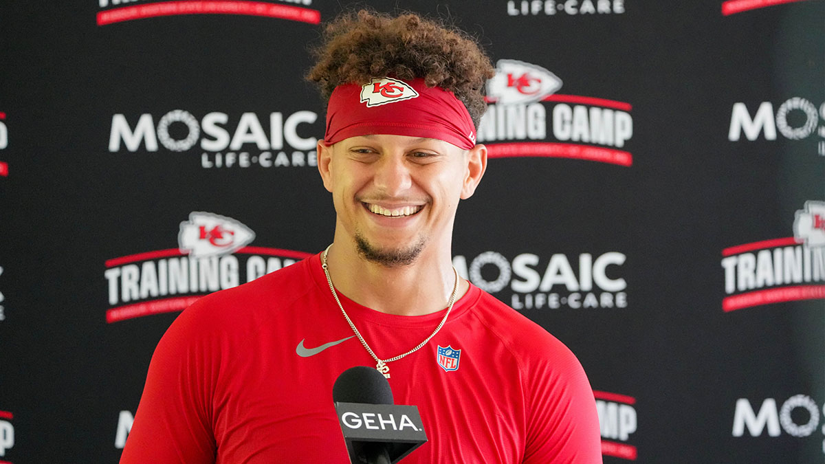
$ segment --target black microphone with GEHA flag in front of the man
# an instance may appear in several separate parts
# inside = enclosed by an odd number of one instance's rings
[[[352,464],[394,464],[427,443],[418,408],[394,405],[389,381],[372,367],[344,371],[332,400]]]

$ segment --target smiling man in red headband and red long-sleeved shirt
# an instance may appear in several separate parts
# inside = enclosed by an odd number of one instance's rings
[[[332,384],[375,366],[429,441],[403,462],[601,462],[595,401],[557,339],[458,276],[460,199],[487,167],[478,46],[415,15],[328,26],[323,253],[185,310],[158,348],[121,462],[348,462]]]

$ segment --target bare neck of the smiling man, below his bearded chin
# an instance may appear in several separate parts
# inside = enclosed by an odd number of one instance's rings
[[[449,245],[446,252],[425,247],[413,263],[388,267],[366,260],[354,240],[336,234],[327,264],[337,291],[387,314],[427,315],[444,310],[456,284]],[[468,288],[469,284],[459,278],[455,300]]]

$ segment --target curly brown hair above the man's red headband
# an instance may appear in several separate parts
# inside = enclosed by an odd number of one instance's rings
[[[493,65],[476,40],[414,13],[344,13],[328,23],[323,43],[312,51],[318,61],[307,78],[319,84],[324,99],[340,84],[391,76],[423,78],[427,87],[453,92],[476,126],[487,108],[484,83]]]

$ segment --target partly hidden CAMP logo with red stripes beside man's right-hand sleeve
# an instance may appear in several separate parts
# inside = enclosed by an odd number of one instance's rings
[[[599,414],[601,454],[635,461],[639,452],[627,442],[638,426],[634,408],[636,399],[607,391],[593,391],[593,395],[596,397],[596,412]]]

